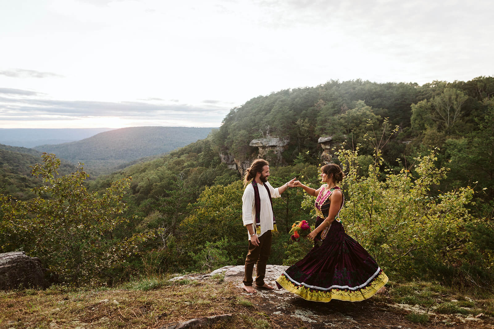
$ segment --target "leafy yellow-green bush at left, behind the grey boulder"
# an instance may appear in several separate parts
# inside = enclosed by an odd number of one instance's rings
[[[122,199],[130,178],[112,183],[99,196],[87,192],[82,168],[59,177],[60,160],[54,154],[42,157],[44,163],[33,167],[33,175],[44,183],[33,190],[36,198],[18,201],[0,195],[1,249],[37,255],[50,270],[76,285],[112,278],[115,267],[122,270],[149,236],[113,236],[126,222]]]

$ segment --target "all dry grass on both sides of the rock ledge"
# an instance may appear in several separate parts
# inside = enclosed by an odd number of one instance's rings
[[[284,328],[280,323],[287,321],[263,310],[262,297],[258,294],[240,294],[239,288],[225,282],[223,275],[202,281],[167,279],[133,279],[114,288],[52,286],[46,290],[0,291],[0,328],[49,328],[50,325],[59,328],[161,328],[196,317],[225,313],[234,316],[211,328],[277,329]],[[494,316],[492,294],[484,294],[483,299],[479,299],[469,292],[460,294],[457,289],[434,282],[391,282],[387,287],[388,292],[373,296],[369,305],[392,302],[419,305],[421,310],[414,309],[406,316],[411,323],[431,322],[429,312]],[[295,320],[289,318],[289,321]]]

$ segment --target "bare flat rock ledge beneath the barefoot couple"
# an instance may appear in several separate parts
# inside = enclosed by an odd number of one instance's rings
[[[276,287],[275,280],[287,268],[268,265],[266,282]],[[244,266],[225,266],[207,275],[190,275],[190,279],[204,280],[223,273],[225,281],[238,286],[239,294],[251,300],[259,316],[270,319],[278,328],[494,328],[492,317],[460,314],[436,314],[433,309],[392,302],[389,292],[376,294],[361,302],[332,300],[329,303],[304,300],[286,290],[258,289],[249,294],[242,290]],[[255,273],[255,269],[254,269]],[[183,279],[176,277],[172,280]],[[411,312],[427,314],[425,324],[407,319]]]

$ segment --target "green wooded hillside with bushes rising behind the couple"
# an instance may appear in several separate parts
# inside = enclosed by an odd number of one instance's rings
[[[221,163],[219,154],[250,161],[258,154],[250,141],[266,136],[289,138],[282,159],[270,159],[273,186],[297,177],[319,187],[318,139],[332,138],[332,161],[347,174],[342,184],[345,229],[392,280],[420,277],[486,289],[494,283],[493,77],[423,86],[329,81],[255,97],[232,109],[206,139],[85,184],[81,172],[55,182],[50,178],[55,162],[47,159],[37,173],[44,175],[48,189],[25,208],[3,197],[3,218],[22,214],[25,223],[40,218],[41,228],[32,226],[38,230],[34,235],[62,239],[65,231],[53,234],[58,228],[43,221],[50,214],[50,197],[59,200],[56,222],[67,220],[57,215],[64,213],[60,205],[71,214],[94,209],[94,214],[84,212],[84,218],[74,215],[65,222],[91,241],[81,242],[80,248],[92,248],[91,257],[58,269],[67,281],[88,281],[79,272],[82,267],[91,269],[92,280],[104,282],[142,272],[242,264],[247,239],[241,220],[243,186],[239,172]],[[280,234],[270,262],[293,263],[310,247],[290,241],[289,231],[297,220],[314,224],[313,202],[296,188],[273,200]],[[103,213],[106,207],[111,211]],[[108,226],[103,227],[102,218],[108,218]],[[13,224],[2,225],[6,231]],[[88,231],[94,235],[84,238]],[[22,240],[17,233],[15,239],[1,239],[3,250],[43,251],[54,267],[63,258],[49,246],[42,249],[42,238]],[[101,261],[111,250],[118,255]],[[72,253],[71,259],[79,255],[78,249]]]

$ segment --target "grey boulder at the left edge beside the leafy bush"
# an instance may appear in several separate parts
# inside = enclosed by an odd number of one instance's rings
[[[23,288],[47,288],[41,261],[25,252],[0,254],[0,290]]]

